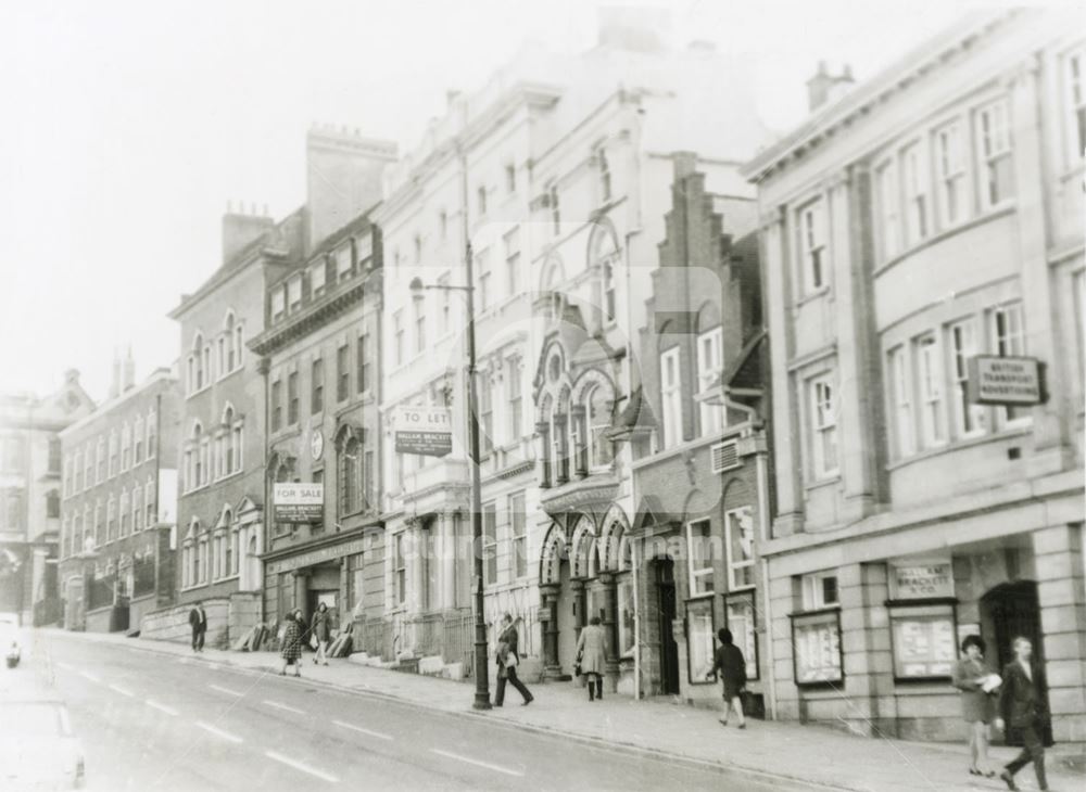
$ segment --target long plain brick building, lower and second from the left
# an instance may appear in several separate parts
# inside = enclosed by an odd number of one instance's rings
[[[174,601],[180,398],[169,369],[137,385],[129,353],[114,363],[110,398],[61,432],[67,629],[138,629]]]

